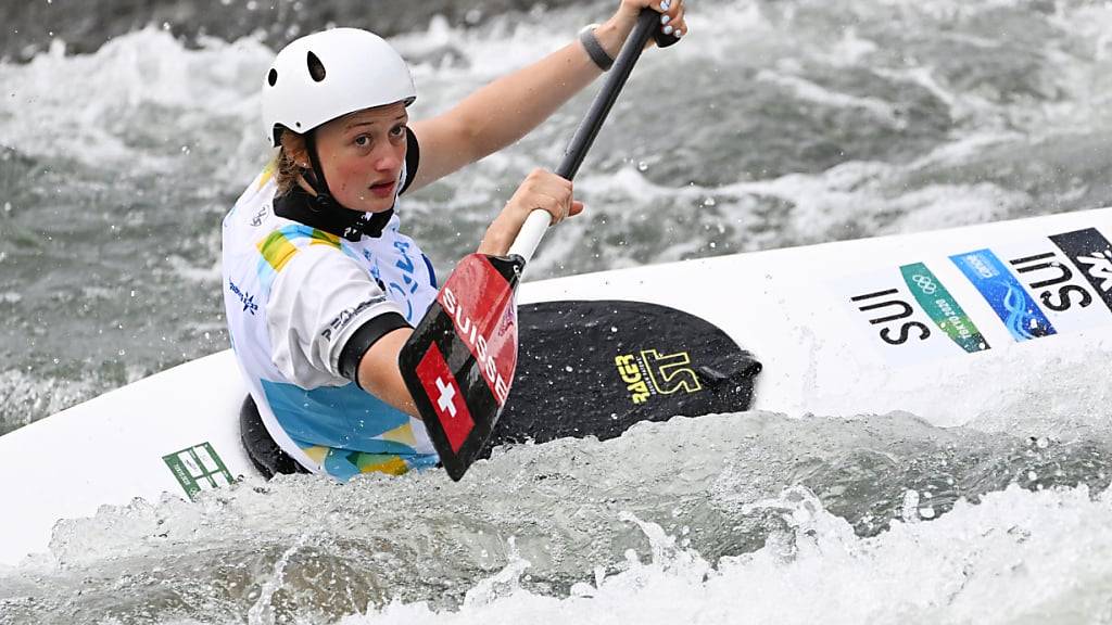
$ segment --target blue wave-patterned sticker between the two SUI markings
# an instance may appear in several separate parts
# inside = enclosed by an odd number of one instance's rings
[[[950,259],[969,278],[1016,341],[1058,334],[1023,285],[992,250],[979,249],[951,256]],[[1020,258],[1012,264],[1024,265],[1027,260]],[[1046,302],[1048,298],[1043,301]]]

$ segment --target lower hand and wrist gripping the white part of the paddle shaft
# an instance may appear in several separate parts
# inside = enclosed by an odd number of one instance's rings
[[[570,215],[583,212],[583,202],[572,198],[570,180],[552,171],[534,169],[487,228],[478,252],[505,256],[522,230],[525,218],[537,208],[548,211],[552,216],[549,225],[555,226]]]

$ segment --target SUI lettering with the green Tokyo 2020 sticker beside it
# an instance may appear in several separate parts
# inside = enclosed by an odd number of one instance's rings
[[[991,349],[976,323],[924,262],[844,280],[854,325],[894,364]]]

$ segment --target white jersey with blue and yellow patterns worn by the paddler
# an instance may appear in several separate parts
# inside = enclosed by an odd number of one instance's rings
[[[396,212],[380,237],[358,241],[276,215],[272,173],[225,218],[222,261],[232,348],[267,431],[302,466],[339,479],[435,465],[420,420],[339,373],[365,324],[420,320],[437,294],[431,264],[398,231]]]

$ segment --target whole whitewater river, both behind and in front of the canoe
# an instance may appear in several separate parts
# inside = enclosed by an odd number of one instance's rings
[[[688,2],[691,36],[646,53],[576,181],[588,212],[532,279],[1112,204],[1112,6]],[[415,117],[614,4],[403,23]],[[219,224],[268,158],[274,49],[175,30],[0,62],[0,434],[227,347]],[[404,229],[441,275],[588,101],[414,194]],[[677,418],[496,450],[459,484],[137,502],[0,568],[0,623],[1112,622],[1112,408],[974,417]]]

